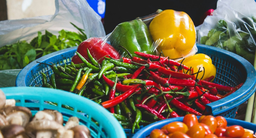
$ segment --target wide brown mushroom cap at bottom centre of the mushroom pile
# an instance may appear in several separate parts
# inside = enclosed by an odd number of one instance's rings
[[[34,137],[37,131],[55,131],[57,132],[58,129],[64,129],[64,126],[56,121],[53,120],[33,120],[29,122],[26,127],[26,133],[30,137]]]

